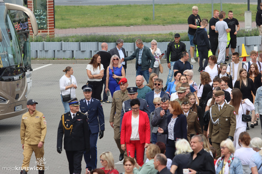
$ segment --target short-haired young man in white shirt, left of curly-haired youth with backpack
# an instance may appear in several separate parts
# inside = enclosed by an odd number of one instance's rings
[[[233,87],[236,80],[239,78],[239,70],[243,68],[242,62],[239,62],[238,52],[232,53],[232,62],[227,67],[227,74],[232,76]]]

